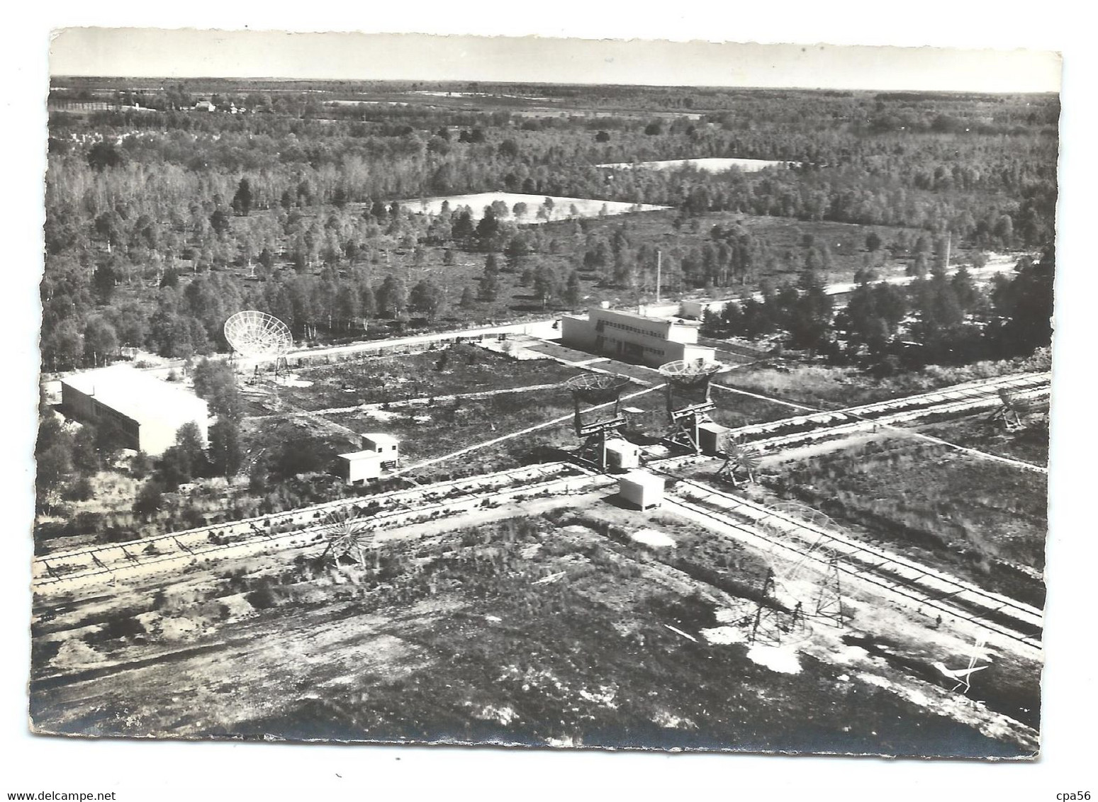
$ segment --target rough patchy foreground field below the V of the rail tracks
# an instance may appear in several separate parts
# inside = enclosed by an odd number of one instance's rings
[[[959,705],[931,664],[954,662],[963,641],[860,598],[847,635],[813,623],[788,643],[746,643],[730,622],[758,603],[758,555],[666,513],[597,499],[572,508],[421,529],[366,566],[280,553],[40,611],[35,724],[898,755],[1034,748],[1017,723],[1019,704],[1035,709],[1018,680],[1031,667],[1017,659],[996,657],[986,709]],[[642,528],[674,545],[639,544]]]

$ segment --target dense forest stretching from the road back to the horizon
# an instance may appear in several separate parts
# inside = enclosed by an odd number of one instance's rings
[[[1053,239],[1050,95],[104,83],[69,81],[51,95],[47,370],[99,364],[123,347],[220,350],[225,317],[247,307],[316,339],[369,320],[430,325],[447,305],[475,317],[501,270],[542,308],[571,307],[592,283],[650,285],[658,247],[671,293],[748,289],[763,267],[826,274],[832,245],[778,248],[731,218],[710,231],[715,213],[887,227],[895,234],[859,249],[919,273],[946,236],[977,250]],[[200,99],[214,111],[195,111]],[[97,101],[104,108],[81,105]],[[798,165],[597,167],[695,157]],[[675,230],[698,236],[668,248],[634,215],[539,224],[537,207],[421,215],[393,203],[488,191],[671,206]],[[456,255],[484,264],[475,286],[448,293],[435,279],[389,274],[394,259],[445,266]]]

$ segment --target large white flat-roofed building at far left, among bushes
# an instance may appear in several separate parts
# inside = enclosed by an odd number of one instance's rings
[[[194,423],[204,442],[210,418],[206,403],[190,389],[125,364],[63,379],[61,409],[77,420],[112,427],[126,448],[152,456],[175,445],[184,423]]]

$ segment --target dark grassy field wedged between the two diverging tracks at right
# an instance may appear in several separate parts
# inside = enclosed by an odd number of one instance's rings
[[[765,485],[870,541],[981,587],[1043,605],[1045,477],[883,434],[771,463]]]

